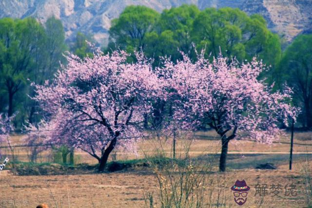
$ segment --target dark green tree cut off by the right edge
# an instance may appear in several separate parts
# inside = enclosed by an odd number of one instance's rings
[[[278,68],[280,82],[294,90],[294,102],[301,107],[300,121],[312,128],[312,35],[300,35],[286,49]]]

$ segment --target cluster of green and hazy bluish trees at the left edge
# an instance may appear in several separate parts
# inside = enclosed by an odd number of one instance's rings
[[[14,112],[15,121],[32,121],[34,103],[30,81],[42,83],[59,68],[65,50],[60,20],[47,20],[45,27],[34,18],[0,19],[0,111]]]

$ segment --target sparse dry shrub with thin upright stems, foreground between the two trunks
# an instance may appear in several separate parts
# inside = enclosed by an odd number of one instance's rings
[[[206,161],[190,157],[194,140],[181,132],[176,135],[180,145],[177,152],[170,154],[176,155],[175,158],[168,158],[165,150],[171,140],[168,137],[157,137],[154,145],[157,154],[153,159],[145,154],[158,182],[156,192],[144,194],[146,207],[225,207],[225,185],[221,182],[221,175],[213,173],[215,155]]]

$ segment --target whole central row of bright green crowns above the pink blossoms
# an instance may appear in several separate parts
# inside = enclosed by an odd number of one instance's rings
[[[233,8],[199,11],[186,4],[161,14],[144,6],[127,7],[112,21],[108,48],[129,53],[143,50],[157,65],[159,56],[176,61],[182,58],[180,52],[195,59],[194,46],[205,48],[206,57],[217,57],[221,52],[240,62],[256,56],[275,66],[281,57],[280,39],[260,15],[248,16]]]

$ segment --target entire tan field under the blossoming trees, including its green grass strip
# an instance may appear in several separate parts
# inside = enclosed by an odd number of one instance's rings
[[[213,132],[197,132],[196,134],[214,136]],[[215,203],[220,197],[219,205],[212,207],[237,207],[234,203],[231,187],[234,182],[244,179],[251,188],[248,193],[248,200],[242,207],[308,207],[306,202],[307,175],[303,171],[309,167],[307,160],[311,161],[312,154],[312,133],[295,133],[293,169],[288,170],[290,141],[289,136],[280,139],[281,143],[272,145],[257,144],[251,141],[232,141],[229,144],[229,155],[227,161],[227,172],[219,173],[218,151],[220,141],[214,139],[196,139],[190,146],[189,156],[197,161],[197,164],[204,164],[211,158],[215,158],[213,167],[209,174],[214,180],[207,187],[207,195],[212,193]],[[15,136],[15,144],[20,143],[21,136]],[[299,145],[300,144],[300,145]],[[305,145],[303,145],[305,144]],[[141,140],[138,142],[138,153],[132,154],[118,150],[117,160],[130,160],[144,158],[145,155],[155,155],[156,147],[159,145],[155,140]],[[170,141],[163,142],[163,150],[170,157],[172,144]],[[177,142],[177,157],[185,152],[185,142]],[[16,151],[19,160],[27,161],[27,151],[20,149]],[[308,152],[308,153],[305,153]],[[2,151],[2,154],[5,151]],[[49,152],[41,155],[41,160],[49,159]],[[84,152],[76,151],[77,163],[95,164],[91,156]],[[259,164],[273,163],[277,170],[258,170],[255,167]],[[154,205],[157,203],[159,192],[157,179],[153,171],[144,166],[134,166],[116,172],[96,173],[95,170],[73,171],[71,167],[64,167],[61,175],[14,175],[10,170],[0,172],[0,207],[36,207],[40,203],[47,203],[49,207],[72,207],[72,208],[119,208],[119,207],[145,207],[144,195],[154,194]],[[66,174],[67,173],[67,174]],[[199,173],[198,173],[199,174]],[[256,193],[256,185],[266,184],[267,193],[259,196]],[[272,196],[270,187],[273,184],[280,184],[280,193]],[[296,195],[285,196],[286,190],[295,185]],[[209,194],[208,194],[209,193]],[[294,194],[293,194],[294,195]],[[205,196],[208,200],[208,196]],[[263,199],[262,204],[258,201]],[[15,203],[14,206],[8,203]],[[224,204],[225,203],[225,204]]]

